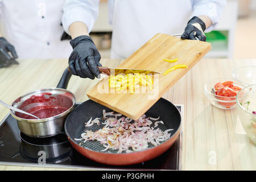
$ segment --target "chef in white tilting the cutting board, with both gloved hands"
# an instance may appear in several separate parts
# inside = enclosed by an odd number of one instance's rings
[[[67,0],[62,23],[71,35],[69,69],[82,78],[100,77],[101,56],[89,32],[97,19],[100,0]],[[109,0],[113,26],[112,59],[125,59],[156,33],[180,34],[181,39],[205,41],[204,32],[220,20],[225,0]]]

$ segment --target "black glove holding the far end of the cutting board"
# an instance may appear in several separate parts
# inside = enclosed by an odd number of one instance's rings
[[[181,35],[181,39],[191,39],[197,40],[198,38],[201,41],[206,41],[206,36],[204,34],[205,31],[205,23],[203,20],[194,16],[189,20],[187,27],[185,27],[184,33]]]

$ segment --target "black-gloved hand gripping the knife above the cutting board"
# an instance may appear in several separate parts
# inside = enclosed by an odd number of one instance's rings
[[[101,55],[98,52],[93,40],[87,35],[81,35],[70,41],[73,52],[69,56],[69,69],[73,75],[82,78],[100,78],[98,66]]]

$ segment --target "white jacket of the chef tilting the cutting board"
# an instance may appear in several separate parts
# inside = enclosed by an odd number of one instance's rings
[[[99,0],[67,0],[62,18],[65,31],[71,23],[84,22],[90,32],[97,19]],[[156,33],[182,34],[192,16],[207,15],[218,23],[225,0],[109,0],[113,26],[111,58],[125,59]]]

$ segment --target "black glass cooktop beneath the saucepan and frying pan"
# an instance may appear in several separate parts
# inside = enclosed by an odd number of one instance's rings
[[[181,109],[180,106],[177,106]],[[9,114],[0,127],[0,164],[88,169],[179,169],[181,134],[164,154],[147,162],[130,166],[109,166],[94,162],[77,152],[65,134],[48,138],[31,138],[18,129]]]

